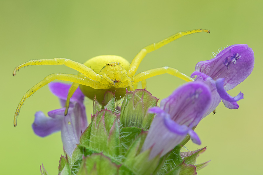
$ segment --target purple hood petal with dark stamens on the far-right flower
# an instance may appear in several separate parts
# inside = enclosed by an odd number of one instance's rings
[[[229,46],[214,59],[196,64],[195,70],[210,76],[213,80],[225,78],[225,90],[230,90],[244,81],[254,67],[254,53],[246,44]]]

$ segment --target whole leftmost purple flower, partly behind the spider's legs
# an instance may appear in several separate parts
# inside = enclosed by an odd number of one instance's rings
[[[49,83],[50,91],[65,105],[70,85],[64,83]],[[32,128],[38,136],[44,137],[61,130],[65,152],[71,157],[81,133],[87,128],[84,95],[78,88],[70,99],[68,114],[64,116],[65,108],[49,111],[46,117],[42,111],[35,114]]]

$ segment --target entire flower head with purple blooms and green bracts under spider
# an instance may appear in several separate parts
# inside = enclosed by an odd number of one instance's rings
[[[197,174],[208,162],[195,164],[206,148],[180,153],[191,140],[201,144],[194,129],[222,100],[237,109],[243,93],[231,97],[226,91],[244,81],[254,67],[248,45],[229,46],[211,60],[196,64],[195,80],[177,88],[156,106],[158,99],[146,90],[128,92],[115,108],[114,93],[106,92],[105,107],[94,98],[91,123],[87,127],[84,95],[77,89],[65,108],[46,117],[35,114],[32,124],[39,136],[61,131],[66,157],[60,158],[59,174]],[[51,92],[65,105],[70,85],[50,83]],[[42,174],[46,173],[46,170]]]

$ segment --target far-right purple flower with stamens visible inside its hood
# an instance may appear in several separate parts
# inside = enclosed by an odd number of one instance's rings
[[[243,99],[243,93],[231,97],[226,91],[244,81],[251,74],[253,67],[254,53],[246,44],[229,46],[215,58],[196,64],[196,71],[191,77],[197,75],[194,81],[207,84],[212,93],[212,103],[203,118],[211,113],[221,100],[227,108],[238,108],[236,101]]]

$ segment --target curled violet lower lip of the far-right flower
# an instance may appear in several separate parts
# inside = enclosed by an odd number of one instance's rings
[[[240,99],[243,99],[244,94],[239,92],[239,94],[236,97],[231,97],[226,90],[224,89],[224,78],[219,78],[217,79],[216,83],[216,87],[217,87],[217,92],[220,95],[220,97],[226,101],[229,102],[236,102]]]

